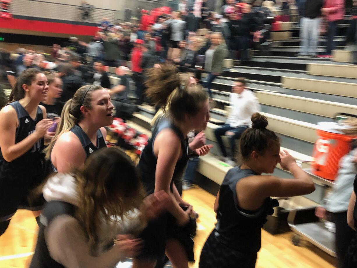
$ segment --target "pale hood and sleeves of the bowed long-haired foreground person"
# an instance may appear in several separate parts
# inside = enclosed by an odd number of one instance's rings
[[[79,202],[75,179],[70,174],[57,173],[49,178],[42,192],[47,202],[64,201],[76,206]],[[124,256],[118,247],[112,247],[104,252],[104,246],[112,241],[116,234],[137,232],[144,227],[138,217],[139,210],[136,209],[128,214],[110,226],[105,225],[103,221],[97,257],[91,256],[86,235],[74,217],[70,215],[56,217],[45,229],[46,244],[51,257],[67,268],[114,267]],[[46,219],[43,217],[41,222],[46,225]]]

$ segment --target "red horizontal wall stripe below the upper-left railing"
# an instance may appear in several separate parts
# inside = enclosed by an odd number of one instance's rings
[[[11,18],[0,18],[0,28],[91,36],[93,36],[98,29],[95,26]]]

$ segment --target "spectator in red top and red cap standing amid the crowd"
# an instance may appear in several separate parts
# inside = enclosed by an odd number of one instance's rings
[[[131,70],[132,70],[132,79],[135,81],[136,95],[138,98],[138,105],[142,104],[144,100],[143,94],[143,76],[141,69],[141,60],[142,60],[142,45],[144,45],[144,40],[137,39],[134,44],[134,48],[131,51]]]

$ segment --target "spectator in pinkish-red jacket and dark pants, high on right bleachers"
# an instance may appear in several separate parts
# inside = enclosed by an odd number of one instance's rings
[[[322,15],[326,16],[328,23],[327,34],[327,49],[325,55],[320,55],[323,58],[331,58],[331,52],[334,48],[333,36],[336,34],[337,24],[343,20],[345,16],[345,1],[344,0],[325,0],[323,8],[321,8]]]

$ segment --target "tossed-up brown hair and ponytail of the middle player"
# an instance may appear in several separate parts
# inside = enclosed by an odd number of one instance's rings
[[[171,64],[151,68],[147,73],[146,95],[162,110],[169,107],[170,116],[182,122],[185,114],[194,116],[208,99],[205,91],[195,84],[188,86],[189,75],[179,75]]]

